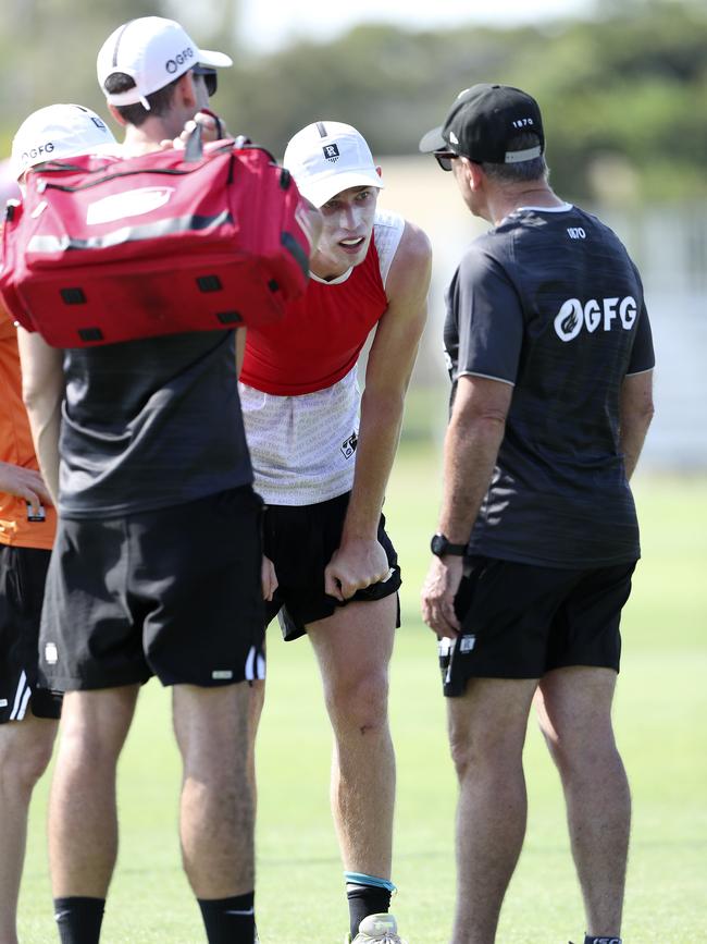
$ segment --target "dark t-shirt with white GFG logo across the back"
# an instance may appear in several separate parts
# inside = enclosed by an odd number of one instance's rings
[[[570,568],[636,560],[619,397],[654,354],[641,279],[616,234],[569,205],[517,210],[462,259],[445,347],[452,397],[463,375],[513,385],[470,551]]]

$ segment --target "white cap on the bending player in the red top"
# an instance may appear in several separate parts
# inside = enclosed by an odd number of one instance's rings
[[[349,187],[383,187],[365,139],[350,124],[317,121],[290,138],[283,164],[302,196],[323,206]]]

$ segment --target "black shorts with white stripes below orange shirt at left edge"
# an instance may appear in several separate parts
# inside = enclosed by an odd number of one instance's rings
[[[37,686],[39,617],[51,551],[0,544],[0,724],[59,718],[61,695]]]

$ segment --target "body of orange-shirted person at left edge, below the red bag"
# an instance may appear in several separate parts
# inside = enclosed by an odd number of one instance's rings
[[[0,942],[16,944],[27,811],[61,696],[37,687],[37,636],[57,515],[22,402],[17,331],[0,307]]]

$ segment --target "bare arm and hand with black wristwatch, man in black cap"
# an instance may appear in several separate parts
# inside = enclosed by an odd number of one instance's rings
[[[466,544],[504,439],[513,388],[483,377],[460,377],[444,448],[444,490],[437,530]],[[454,600],[463,559],[433,557],[422,589],[424,622],[438,636],[459,629]]]

